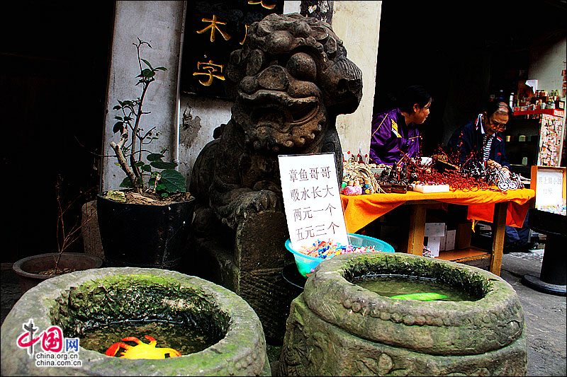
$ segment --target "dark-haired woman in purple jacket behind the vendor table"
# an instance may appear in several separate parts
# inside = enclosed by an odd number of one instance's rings
[[[432,100],[423,86],[410,86],[400,95],[399,108],[375,114],[369,162],[393,165],[404,155],[419,156],[420,130],[417,127],[430,114]]]

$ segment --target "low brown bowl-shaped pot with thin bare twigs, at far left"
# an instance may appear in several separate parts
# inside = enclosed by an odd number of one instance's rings
[[[55,277],[67,272],[80,271],[84,269],[101,267],[103,261],[95,255],[85,253],[66,253],[66,250],[79,239],[82,227],[88,223],[92,216],[87,216],[82,221],[77,221],[73,226],[65,226],[65,217],[69,208],[86,196],[89,191],[83,192],[73,200],[66,201],[62,195],[63,180],[59,176],[55,183],[55,195],[57,198],[57,253],[45,253],[22,258],[12,265],[12,269],[20,279],[22,294],[28,289],[50,277]]]

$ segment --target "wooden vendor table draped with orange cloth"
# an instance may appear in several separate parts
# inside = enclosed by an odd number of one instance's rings
[[[456,190],[427,194],[408,191],[405,194],[341,195],[348,233],[359,231],[400,205],[410,205],[408,253],[415,255],[423,254],[427,207],[439,202],[468,206],[468,219],[493,223],[492,250],[487,252],[478,248],[468,248],[454,250],[454,253],[450,253],[448,257],[442,255],[439,257],[456,262],[490,257],[490,272],[497,275],[500,275],[500,265],[502,265],[505,226],[521,227],[530,207],[529,202],[534,197],[534,190],[526,188],[505,192]]]

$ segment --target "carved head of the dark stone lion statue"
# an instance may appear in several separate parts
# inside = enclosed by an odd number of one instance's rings
[[[361,71],[330,25],[297,13],[253,23],[226,76],[247,142],[274,153],[313,149],[362,95]]]

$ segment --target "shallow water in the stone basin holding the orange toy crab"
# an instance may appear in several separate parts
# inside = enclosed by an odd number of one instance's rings
[[[199,331],[196,327],[183,323],[138,321],[112,323],[85,329],[83,334],[79,335],[79,344],[85,349],[104,354],[108,347],[122,342],[125,337],[137,337],[140,342],[149,344],[150,341],[144,335],[150,335],[157,340],[155,347],[173,348],[181,355],[203,351],[221,339],[215,337],[210,331]],[[124,343],[135,345],[135,342],[130,341]],[[122,351],[123,349],[120,349],[116,356],[120,356]]]

